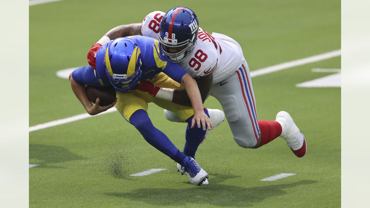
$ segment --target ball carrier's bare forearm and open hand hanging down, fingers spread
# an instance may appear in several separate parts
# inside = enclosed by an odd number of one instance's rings
[[[205,124],[207,124],[207,127],[210,130],[212,122],[203,111],[202,98],[196,81],[189,74],[185,74],[181,79],[181,84],[184,86],[194,110],[194,117],[190,128],[194,128],[195,123],[197,123],[198,128],[200,128],[202,123],[203,130],[206,130]]]

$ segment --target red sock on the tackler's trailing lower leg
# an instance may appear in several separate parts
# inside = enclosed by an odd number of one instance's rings
[[[277,121],[258,121],[259,129],[261,130],[261,147],[264,144],[269,143],[281,134],[281,125]]]

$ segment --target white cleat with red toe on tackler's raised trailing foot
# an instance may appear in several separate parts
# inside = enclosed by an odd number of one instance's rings
[[[297,157],[303,157],[307,151],[305,136],[299,131],[293,118],[286,111],[280,111],[277,113],[275,121],[282,128],[280,137],[286,141]]]

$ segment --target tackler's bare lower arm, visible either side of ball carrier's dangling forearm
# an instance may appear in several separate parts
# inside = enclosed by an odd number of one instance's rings
[[[196,81],[199,92],[201,93],[202,103],[204,103],[212,87],[213,73],[205,77],[194,78],[194,80]],[[180,105],[192,106],[185,89],[174,89],[172,102]]]

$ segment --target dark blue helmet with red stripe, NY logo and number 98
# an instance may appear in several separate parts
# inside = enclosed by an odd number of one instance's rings
[[[198,17],[193,10],[175,7],[163,16],[159,27],[159,41],[162,51],[173,63],[178,63],[192,50],[198,37]],[[170,53],[167,48],[185,47],[177,53]]]

